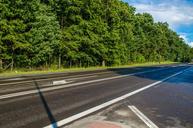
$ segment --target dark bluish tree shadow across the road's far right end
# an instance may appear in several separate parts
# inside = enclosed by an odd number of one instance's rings
[[[152,67],[136,67],[136,68],[122,68],[122,69],[108,69],[108,70],[111,72],[115,72],[116,74],[119,74],[119,75],[125,75],[125,74],[136,73],[136,72],[146,72],[146,71],[150,71],[150,70],[160,70],[159,72],[149,72],[149,73],[142,73],[142,74],[133,75],[133,76],[138,77],[138,78],[159,81],[160,79],[163,79],[163,78],[170,76],[174,73],[185,70],[191,66],[193,66],[193,65],[180,66],[180,67],[152,66]],[[180,80],[174,80],[174,81],[170,80],[170,81],[167,81],[167,83],[184,82],[184,83],[191,83],[192,84],[193,83],[192,73],[193,73],[193,70],[184,74],[183,78],[181,78]]]

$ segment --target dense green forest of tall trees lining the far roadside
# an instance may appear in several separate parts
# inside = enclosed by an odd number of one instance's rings
[[[189,62],[193,49],[120,0],[0,0],[0,70]]]

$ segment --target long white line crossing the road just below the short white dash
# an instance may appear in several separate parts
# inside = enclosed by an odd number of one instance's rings
[[[65,85],[60,85],[60,86],[51,86],[51,87],[47,87],[47,88],[42,88],[40,90],[41,90],[41,92],[47,92],[47,91],[51,91],[51,90],[57,90],[57,89],[62,89],[62,88],[67,88],[67,87],[72,87],[72,86],[77,86],[77,85],[90,84],[90,83],[101,82],[101,81],[106,81],[106,80],[118,79],[118,78],[123,78],[123,77],[137,75],[137,74],[154,72],[154,71],[158,71],[158,70],[165,70],[165,69],[156,69],[156,70],[132,73],[132,74],[127,74],[127,75],[120,75],[120,76],[108,77],[108,78],[103,78],[103,79],[79,82],[79,83],[65,84]],[[5,95],[0,96],[0,100],[1,99],[12,98],[12,97],[17,97],[17,96],[24,96],[24,95],[28,95],[28,94],[35,94],[35,93],[38,93],[38,91],[37,90],[29,90],[29,91],[5,94]]]

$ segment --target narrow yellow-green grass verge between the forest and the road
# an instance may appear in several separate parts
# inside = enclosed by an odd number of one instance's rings
[[[76,72],[76,71],[90,71],[90,70],[101,70],[101,69],[109,69],[109,68],[125,68],[125,67],[140,67],[140,66],[153,66],[153,65],[160,65],[160,64],[174,64],[176,62],[147,62],[147,63],[132,63],[128,65],[121,65],[121,66],[111,66],[111,67],[87,67],[87,68],[61,68],[61,69],[46,69],[46,70],[31,70],[26,71],[26,69],[14,69],[13,71],[5,71],[0,73],[0,77],[12,77],[12,76],[19,76],[19,75],[32,75],[32,74],[47,74],[47,73],[57,73],[57,72]]]

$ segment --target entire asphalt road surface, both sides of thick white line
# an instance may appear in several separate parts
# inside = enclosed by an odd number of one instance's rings
[[[128,105],[160,128],[193,126],[192,65],[163,65],[1,78],[0,127],[63,127],[75,120],[58,121],[131,92]]]

